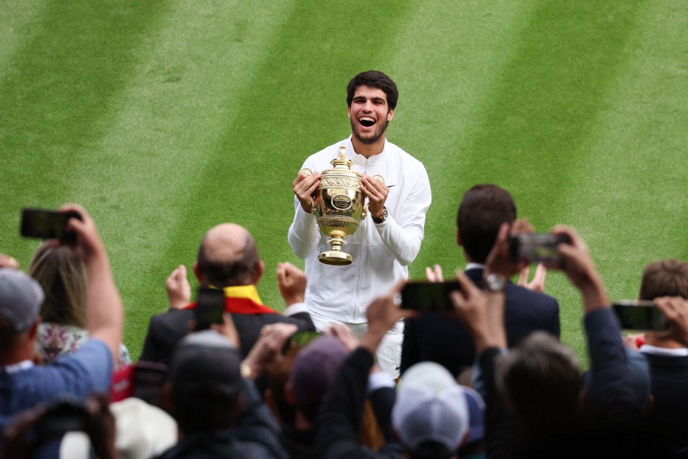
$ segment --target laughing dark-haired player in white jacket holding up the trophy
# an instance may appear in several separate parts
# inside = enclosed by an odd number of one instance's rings
[[[408,277],[407,266],[420,250],[430,183],[420,161],[387,141],[387,124],[394,118],[397,99],[396,84],[382,72],[354,76],[347,86],[352,135],[311,155],[303,167],[313,174],[299,174],[294,181],[295,213],[288,238],[294,253],[305,259],[305,303],[318,329],[343,323],[363,336],[367,306]],[[321,171],[332,169],[330,161],[341,146],[354,162],[352,170],[363,174],[368,217],[344,246],[353,263],[330,266],[318,261],[318,254],[330,245],[311,213],[310,196],[320,185]],[[372,179],[375,175],[385,182]],[[402,334],[403,324],[398,323],[378,349],[380,367],[394,376],[399,371]]]

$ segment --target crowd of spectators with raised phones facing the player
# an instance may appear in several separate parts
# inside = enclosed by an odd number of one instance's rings
[[[645,268],[638,298],[667,329],[624,336],[583,238],[552,230],[562,242],[547,269],[581,294],[583,372],[559,341],[545,267],[528,283],[513,256],[511,238],[533,229],[496,185],[460,203],[455,242],[469,265],[449,311],[400,304],[400,283],[369,305],[361,339],[345,325],[316,332],[305,274],[279,263],[286,309],[264,305],[259,249],[223,223],[192,269],[224,292],[222,317],[197,322],[180,265],[137,362],[96,224],[78,205],[61,211],[80,215],[67,223],[76,242],[45,241],[28,274],[0,254],[0,459],[688,457],[688,263]],[[395,380],[375,356],[402,320]]]

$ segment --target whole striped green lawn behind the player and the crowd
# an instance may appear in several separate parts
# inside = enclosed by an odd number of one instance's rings
[[[515,196],[537,230],[577,227],[612,298],[688,259],[688,3],[680,0],[5,0],[0,15],[0,252],[28,267],[21,207],[87,207],[140,352],[164,279],[224,221],[254,234],[281,307],[279,261],[306,156],[350,132],[345,85],[395,79],[391,141],[433,187],[411,276],[462,267],[460,197]],[[585,354],[561,274],[563,339]]]

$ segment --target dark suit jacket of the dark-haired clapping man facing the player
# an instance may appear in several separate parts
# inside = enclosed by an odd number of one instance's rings
[[[482,287],[482,269],[469,269],[475,285]],[[559,338],[559,303],[555,298],[533,292],[514,283],[506,285],[504,323],[509,347],[516,346],[530,332],[542,330]],[[427,312],[406,320],[401,351],[402,373],[414,363],[431,360],[447,367],[451,374],[473,365],[475,345],[471,334],[458,318]]]

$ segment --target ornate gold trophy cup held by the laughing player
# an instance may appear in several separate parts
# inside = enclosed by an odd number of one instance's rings
[[[320,231],[330,236],[327,241],[331,250],[319,254],[318,261],[325,265],[350,265],[353,258],[342,250],[345,238],[358,230],[367,216],[365,194],[361,192],[361,174],[351,170],[354,161],[347,159],[346,147],[339,147],[339,157],[330,161],[334,169],[323,170],[320,186],[311,196],[312,212]],[[308,168],[301,174],[310,175]],[[374,179],[383,181],[382,176]]]

